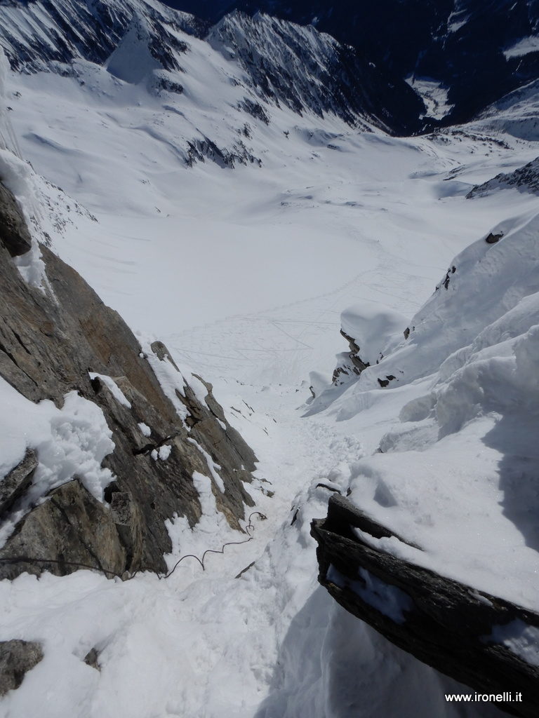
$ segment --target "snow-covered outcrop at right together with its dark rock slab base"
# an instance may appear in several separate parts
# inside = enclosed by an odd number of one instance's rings
[[[503,709],[526,717],[539,701],[538,229],[538,215],[513,217],[466,248],[404,337],[333,391],[337,419],[385,403],[393,423],[313,525],[338,602],[476,691],[521,692]]]

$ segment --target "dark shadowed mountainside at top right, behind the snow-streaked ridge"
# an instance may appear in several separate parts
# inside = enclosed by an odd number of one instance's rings
[[[232,9],[313,24],[359,48],[396,80],[424,78],[448,92],[443,125],[469,121],[490,103],[539,77],[536,0],[170,0],[216,22]],[[430,120],[428,126],[437,122]]]

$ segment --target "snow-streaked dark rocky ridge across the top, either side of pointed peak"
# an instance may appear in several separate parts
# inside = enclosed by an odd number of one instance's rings
[[[118,72],[113,60],[129,34],[144,39],[153,62],[136,76]],[[239,65],[254,104],[256,99],[284,103],[299,116],[333,113],[352,126],[367,121],[397,134],[420,128],[423,101],[404,81],[313,27],[237,12],[210,27],[157,0],[0,2],[0,45],[12,69],[24,73],[76,77],[73,63],[83,60],[106,65],[121,80],[135,83],[154,70],[157,90],[181,93],[182,57],[190,52],[190,37],[205,39]],[[122,67],[139,65],[141,53],[139,47],[137,60],[132,55]]]

